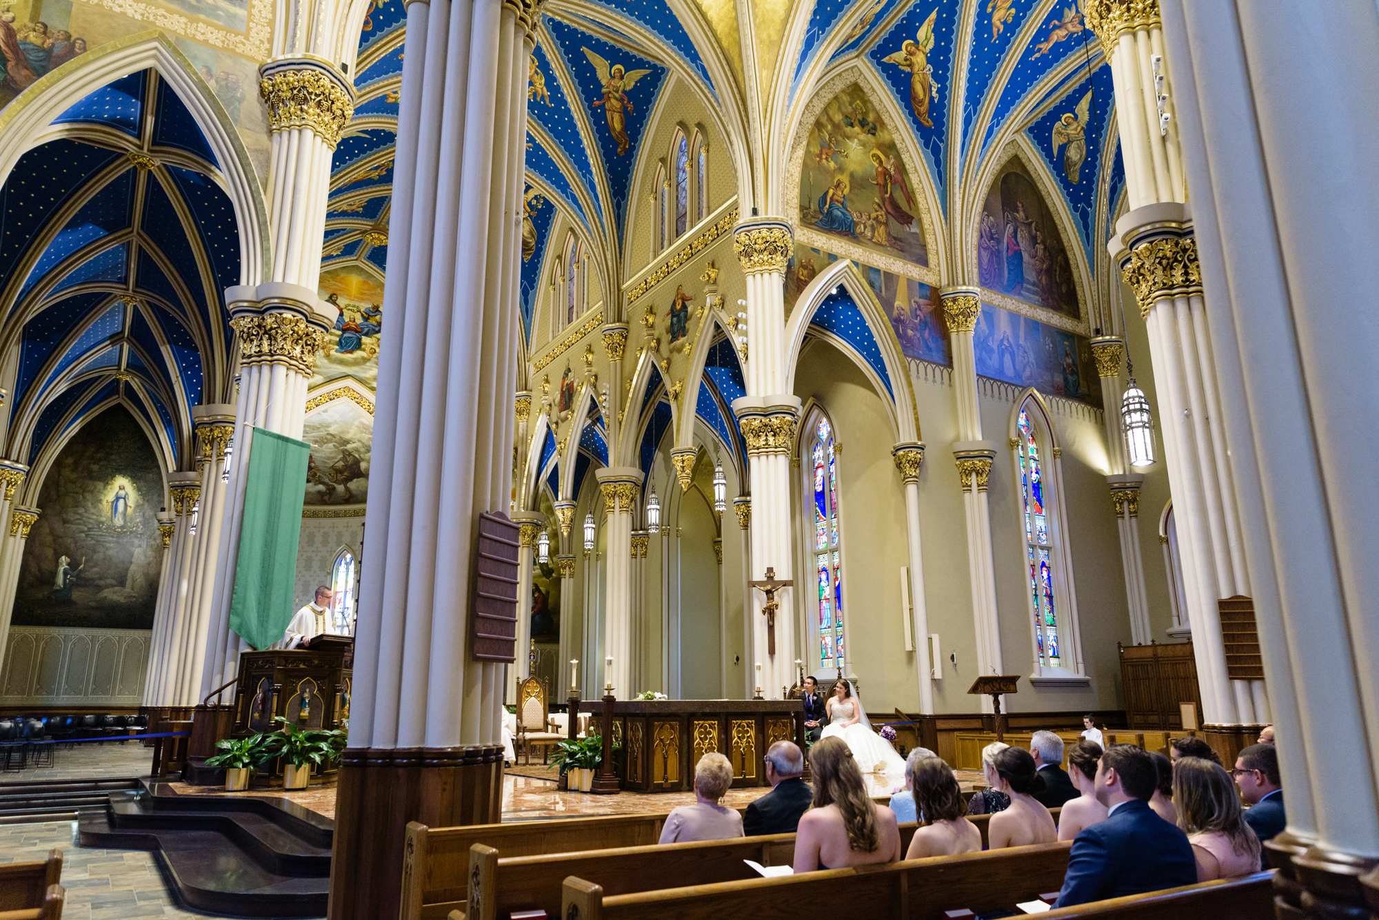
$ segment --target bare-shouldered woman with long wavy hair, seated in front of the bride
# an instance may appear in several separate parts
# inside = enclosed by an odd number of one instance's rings
[[[796,873],[843,869],[900,858],[895,813],[872,802],[862,770],[843,738],[823,738],[809,748],[814,807],[800,818],[794,839]]]

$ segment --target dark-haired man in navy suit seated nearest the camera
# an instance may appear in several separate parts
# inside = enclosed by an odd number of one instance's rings
[[[1147,751],[1111,745],[1092,782],[1110,814],[1073,839],[1055,908],[1197,884],[1187,835],[1149,807],[1158,770]]]

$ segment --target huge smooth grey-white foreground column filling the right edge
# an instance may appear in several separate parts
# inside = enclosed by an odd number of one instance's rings
[[[1183,310],[1172,293],[1179,322],[1164,325],[1182,333],[1189,314],[1215,370],[1220,488],[1237,503],[1288,811],[1265,844],[1281,870],[1277,914],[1368,916],[1379,903],[1379,262],[1364,240],[1379,208],[1365,156],[1379,124],[1365,113],[1379,11],[1318,4],[1298,29],[1267,4],[1161,4],[1193,190],[1183,223],[1205,295]],[[1284,54],[1294,66],[1271,66]],[[1299,112],[1328,125],[1325,143],[1298,131]],[[1182,231],[1127,240],[1157,241],[1143,284],[1176,288]]]

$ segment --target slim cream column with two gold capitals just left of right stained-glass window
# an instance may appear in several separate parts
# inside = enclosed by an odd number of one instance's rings
[[[996,442],[982,439],[982,413],[976,391],[976,353],[972,333],[982,311],[976,288],[945,288],[943,315],[953,343],[953,388],[957,398],[958,441],[953,443],[963,510],[967,516],[968,580],[976,629],[978,673],[1005,673],[1001,664],[1001,631],[996,610],[996,563],[992,555],[992,518],[986,483],[992,475]],[[975,486],[975,488],[974,488]],[[982,697],[982,709],[990,711]]]

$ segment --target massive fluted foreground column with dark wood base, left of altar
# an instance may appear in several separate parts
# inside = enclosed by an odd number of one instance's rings
[[[469,600],[455,585],[470,584],[479,515],[506,514],[512,500],[536,7],[407,4],[383,304],[392,332],[365,518],[375,550],[360,587],[332,920],[397,912],[408,821],[499,817],[505,667],[472,654]],[[374,807],[381,797],[393,804]]]

